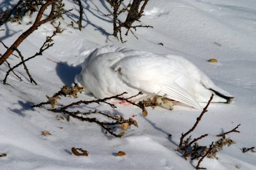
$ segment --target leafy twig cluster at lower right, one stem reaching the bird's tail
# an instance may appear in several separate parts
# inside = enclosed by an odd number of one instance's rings
[[[210,97],[210,100],[208,101],[208,104],[206,105],[206,107],[203,109],[203,111],[201,112],[200,116],[197,117],[196,119],[196,123],[193,125],[193,127],[187,131],[187,133],[185,134],[181,134],[181,138],[180,138],[180,144],[179,144],[179,148],[177,148],[177,151],[182,151],[183,152],[183,156],[184,159],[187,159],[187,157],[190,157],[192,160],[193,159],[199,159],[199,162],[197,163],[196,169],[206,169],[206,168],[201,168],[200,167],[200,163],[203,161],[204,158],[215,158],[218,159],[216,154],[218,151],[221,151],[223,149],[224,146],[230,146],[236,142],[232,141],[232,139],[230,138],[226,138],[225,135],[232,133],[232,132],[237,132],[240,133],[240,131],[238,131],[238,126],[236,126],[236,128],[222,133],[222,134],[218,134],[216,135],[216,137],[222,137],[221,139],[218,139],[218,141],[212,142],[212,144],[207,147],[207,146],[200,146],[197,141],[199,141],[200,139],[207,137],[208,134],[204,134],[201,135],[198,138],[195,138],[191,141],[191,136],[189,136],[185,141],[184,138],[188,135],[191,134],[193,130],[196,129],[196,126],[199,124],[201,118],[203,117],[203,115],[207,112],[207,108],[210,104],[210,101],[212,101],[213,99],[213,95]],[[191,141],[191,142],[190,142]]]

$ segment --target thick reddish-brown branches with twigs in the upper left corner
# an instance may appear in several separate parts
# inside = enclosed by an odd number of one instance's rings
[[[47,9],[48,6],[51,6],[51,12],[49,13],[48,16],[46,16],[45,10]],[[32,15],[33,11],[38,11],[38,14],[36,16],[35,22],[32,24],[30,28],[27,29],[27,31],[23,32],[22,35],[16,39],[16,41],[11,45],[10,47],[6,46],[1,40],[1,44],[6,48],[6,52],[1,55],[0,54],[0,65],[2,65],[3,62],[6,62],[7,65],[9,66],[9,70],[6,73],[5,79],[3,80],[3,83],[6,84],[6,79],[7,76],[10,74],[10,72],[14,73],[14,69],[20,65],[23,65],[24,70],[26,71],[30,82],[35,83],[35,80],[32,78],[30,72],[28,71],[28,68],[26,66],[26,62],[32,58],[35,58],[36,56],[41,56],[44,50],[48,49],[53,45],[53,36],[55,36],[57,33],[61,33],[64,31],[64,29],[60,28],[60,23],[55,27],[55,31],[53,31],[52,36],[47,36],[46,41],[43,43],[41,48],[39,49],[39,52],[35,53],[34,56],[28,57],[25,59],[25,57],[22,55],[22,52],[18,49],[18,46],[24,41],[29,35],[31,35],[32,32],[34,32],[40,25],[51,22],[53,24],[53,21],[55,19],[58,19],[62,17],[64,14],[64,9],[63,9],[64,4],[62,3],[62,0],[48,0],[48,1],[32,1],[30,0],[27,1],[19,1],[11,10],[10,12],[7,12],[7,15],[4,15],[3,18],[1,18],[2,22],[7,22],[11,19],[14,20],[14,18],[21,18],[24,14],[26,14],[27,11],[30,11],[30,15]],[[14,16],[11,16],[14,13]],[[46,16],[46,18],[42,19],[43,16]],[[15,21],[15,20],[14,20]],[[17,54],[14,54],[16,52]],[[7,58],[10,56],[15,56],[19,58],[21,61],[15,65],[11,66],[10,63],[7,61]],[[19,79],[20,76],[18,76],[16,73],[14,75]]]

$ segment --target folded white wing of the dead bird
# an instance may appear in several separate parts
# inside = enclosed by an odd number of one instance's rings
[[[177,79],[187,74],[179,62],[141,51],[130,51],[126,56],[112,67],[128,86],[201,109],[193,96],[176,83]]]

